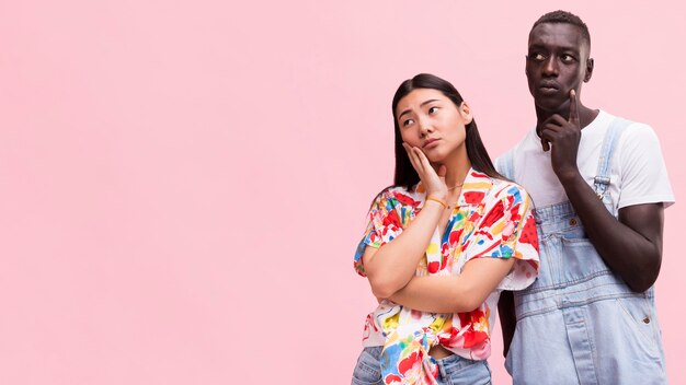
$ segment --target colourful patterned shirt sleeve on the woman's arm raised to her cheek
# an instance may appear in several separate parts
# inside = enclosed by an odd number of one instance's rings
[[[366,277],[362,262],[365,248],[379,248],[400,235],[419,203],[396,189],[387,189],[376,197],[367,214],[367,230],[355,250],[354,267],[357,273]]]

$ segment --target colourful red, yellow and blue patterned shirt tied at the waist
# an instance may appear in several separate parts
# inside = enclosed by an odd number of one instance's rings
[[[425,196],[420,183],[412,190],[388,188],[376,198],[355,253],[359,275],[365,276],[365,248],[381,247],[400,235],[422,209]],[[538,273],[538,237],[529,206],[521,186],[469,171],[445,233],[442,236],[436,228],[416,276],[458,276],[475,258],[516,258],[514,267],[481,306],[467,313],[419,312],[382,300],[367,316],[363,345],[384,347],[385,384],[435,384],[437,365],[428,350],[436,345],[471,360],[490,355],[500,292],[522,290]]]

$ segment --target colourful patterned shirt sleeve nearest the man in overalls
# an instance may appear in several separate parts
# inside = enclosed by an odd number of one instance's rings
[[[508,184],[487,203],[467,248],[467,260],[515,258],[498,289],[522,290],[538,276],[538,235],[530,203],[522,187]]]

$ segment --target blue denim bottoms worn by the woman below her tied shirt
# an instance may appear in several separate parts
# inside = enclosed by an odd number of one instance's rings
[[[379,357],[381,347],[365,348],[355,365],[352,385],[382,385]],[[457,354],[438,362],[438,384],[445,385],[490,385],[491,368],[485,361],[472,361]]]

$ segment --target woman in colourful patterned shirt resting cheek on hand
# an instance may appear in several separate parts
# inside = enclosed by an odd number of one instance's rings
[[[494,170],[449,82],[404,81],[392,113],[395,183],[373,202],[355,255],[379,305],[353,384],[489,384],[500,292],[538,272],[529,197]]]

